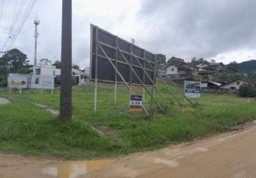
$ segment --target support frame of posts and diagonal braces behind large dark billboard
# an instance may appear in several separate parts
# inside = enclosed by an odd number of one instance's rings
[[[99,41],[99,31],[101,31],[102,33],[107,33],[108,36],[111,36],[110,38],[114,38],[114,40],[112,39],[112,44],[114,45],[111,46],[107,43]],[[123,49],[120,48],[118,43],[119,41],[123,41],[124,43],[128,44],[129,52],[124,51]],[[105,49],[111,48],[112,50],[114,50],[114,58],[111,58],[111,55],[113,57],[113,53],[112,54],[110,53],[110,55],[108,55],[108,53],[104,50],[104,47]],[[139,51],[143,51],[143,57],[142,55],[137,56],[135,54],[134,49],[136,48],[139,49]],[[101,51],[102,54],[99,54],[99,51]],[[137,53],[139,51],[137,51]],[[126,55],[129,56],[129,59],[127,59]],[[157,108],[159,108],[159,110],[161,110],[161,112],[164,113],[164,109],[154,97],[155,89],[157,89],[157,91],[159,91],[159,93],[161,94],[162,98],[164,98],[164,100],[169,102],[169,100],[167,100],[167,98],[163,95],[161,90],[159,90],[159,88],[157,88],[157,86],[155,85],[156,78],[157,78],[157,58],[155,54],[150,53],[149,51],[144,50],[143,48],[140,48],[139,46],[136,46],[133,43],[129,43],[128,41],[125,41],[124,39],[119,38],[118,36],[114,36],[112,33],[109,33],[108,31],[105,31],[104,29],[91,24],[90,56],[91,56],[90,57],[90,80],[94,81],[94,113],[97,112],[97,83],[98,82],[114,83],[114,103],[117,102],[117,84],[126,85],[132,95],[135,94],[134,91],[132,90],[132,85],[142,86],[143,95],[145,91],[147,91],[147,93],[151,97],[151,102],[149,106],[150,112],[148,112],[147,109],[144,108],[143,106],[142,108],[144,112],[149,116],[149,118],[152,118],[152,105],[153,103],[155,103],[157,105]],[[151,56],[152,58],[149,58],[149,56]],[[122,60],[119,59],[120,57],[122,57]],[[104,60],[107,60],[110,63],[110,66],[112,66],[112,70],[114,73],[114,80],[102,80],[98,78],[98,58],[103,58]],[[134,64],[134,61],[136,61],[137,64]],[[141,61],[143,61],[143,63]],[[129,81],[125,80],[122,73],[119,72],[118,65],[117,65],[118,63],[124,64],[126,65],[126,67],[128,67],[129,77],[126,76],[126,78],[129,78]],[[142,75],[139,76],[135,68],[139,68],[139,70],[143,71],[142,73],[140,73]],[[150,72],[152,76],[150,76]],[[147,84],[150,83],[152,85],[146,84],[146,77],[147,77]],[[134,80],[137,81],[137,83],[134,83]],[[149,91],[147,87],[151,87],[151,86],[152,86],[152,91]]]

